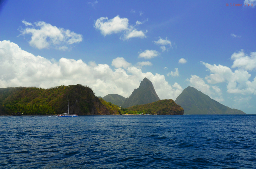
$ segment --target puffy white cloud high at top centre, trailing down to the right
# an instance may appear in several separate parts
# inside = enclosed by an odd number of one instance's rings
[[[133,26],[129,25],[129,20],[127,18],[120,18],[117,15],[113,19],[108,19],[108,17],[101,17],[95,21],[94,27],[99,29],[101,34],[111,35],[116,33],[122,33],[123,40],[128,40],[133,37],[145,38],[146,35],[143,31],[138,31]]]

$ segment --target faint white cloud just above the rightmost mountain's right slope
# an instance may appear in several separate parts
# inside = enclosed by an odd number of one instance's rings
[[[210,96],[212,99],[218,102],[223,101],[223,98],[221,96],[221,90],[218,86],[210,86],[206,84],[202,78],[196,75],[191,75],[191,78],[187,79],[187,81],[189,81],[190,86]]]

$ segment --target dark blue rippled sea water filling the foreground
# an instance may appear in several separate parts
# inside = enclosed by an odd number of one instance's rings
[[[256,115],[0,116],[0,168],[256,168]]]

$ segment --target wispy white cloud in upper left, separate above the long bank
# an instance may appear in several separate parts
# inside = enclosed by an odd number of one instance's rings
[[[35,22],[34,25],[25,20],[23,20],[22,23],[25,24],[27,28],[21,29],[20,35],[31,34],[29,44],[37,49],[53,47],[59,50],[67,50],[67,45],[79,43],[83,40],[80,34],[63,28],[57,28],[43,21]]]

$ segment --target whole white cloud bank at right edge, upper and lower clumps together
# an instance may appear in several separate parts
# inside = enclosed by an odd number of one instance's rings
[[[227,66],[202,62],[210,71],[210,75],[205,76],[205,80],[210,84],[226,82],[228,93],[256,95],[256,77],[250,81],[251,74],[248,72],[256,69],[256,52],[251,52],[248,56],[244,50],[240,50],[233,53],[231,59],[234,60],[231,67],[238,68],[235,71]]]

